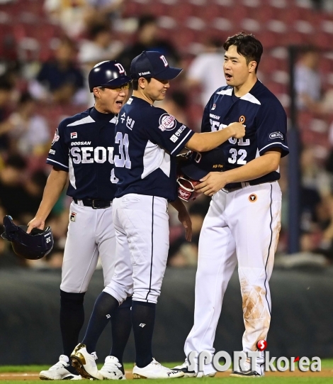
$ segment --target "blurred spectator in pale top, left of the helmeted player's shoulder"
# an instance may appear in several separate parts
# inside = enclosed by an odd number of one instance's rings
[[[36,103],[28,92],[23,92],[16,111],[11,114],[9,131],[11,152],[25,156],[40,156],[47,153],[51,137],[43,116],[36,114]]]

